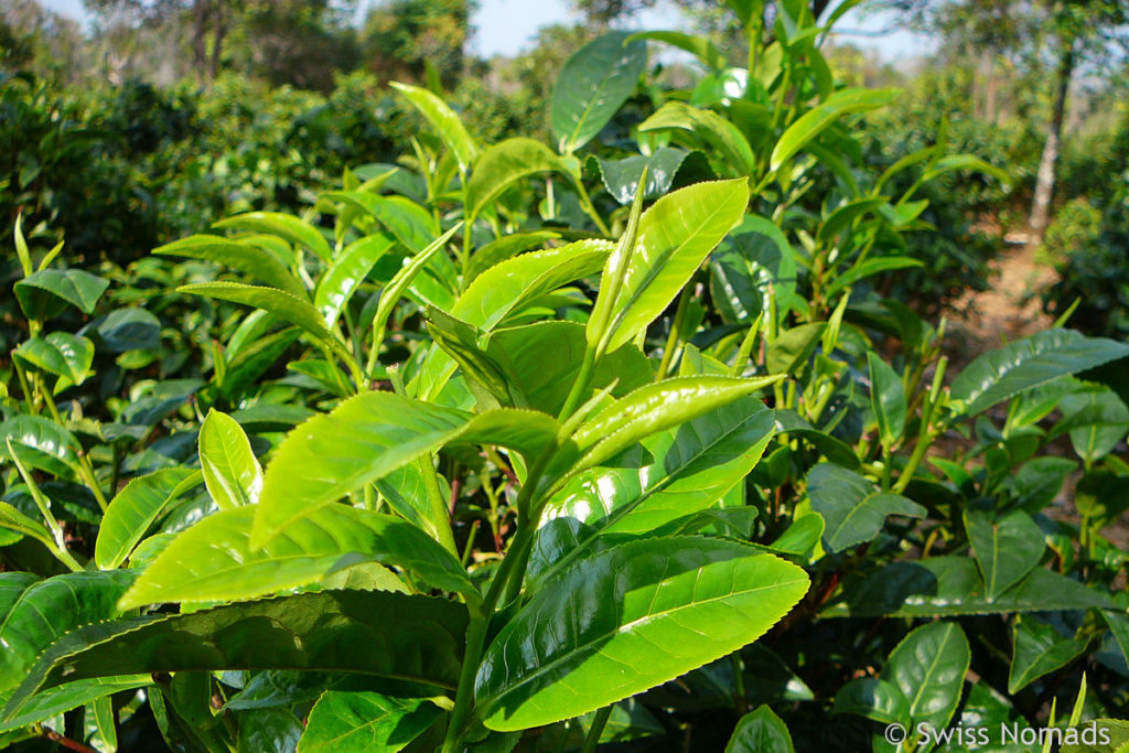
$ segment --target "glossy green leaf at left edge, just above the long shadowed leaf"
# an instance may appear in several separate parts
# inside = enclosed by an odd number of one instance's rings
[[[18,684],[63,633],[116,616],[117,598],[133,577],[126,570],[69,572],[28,585],[0,619],[0,691]]]

